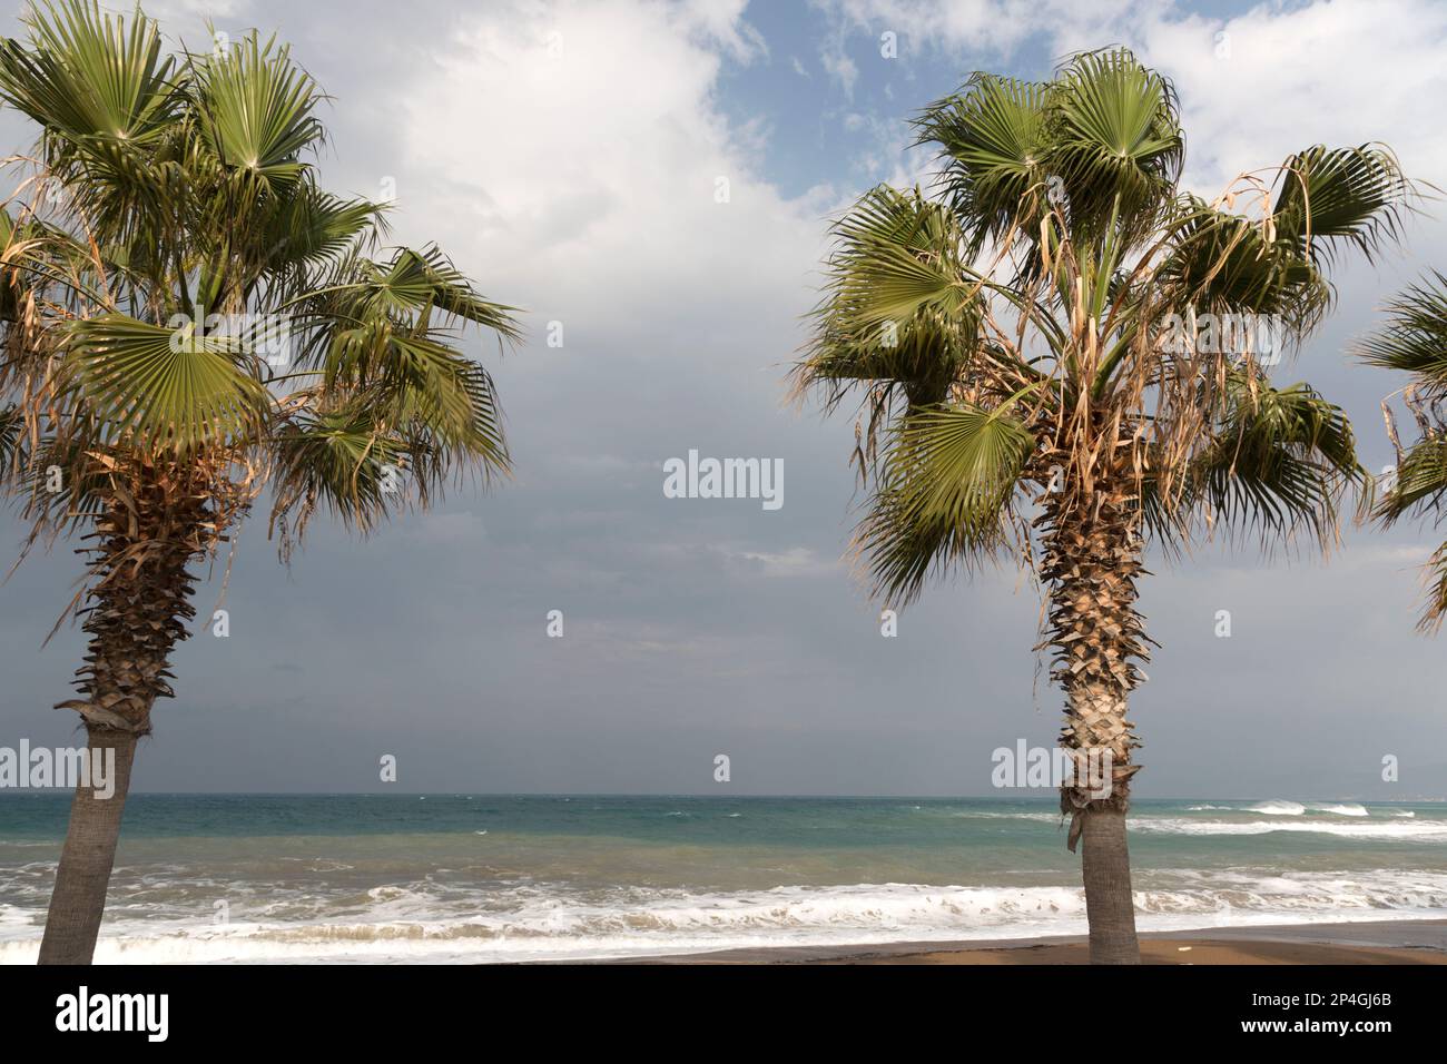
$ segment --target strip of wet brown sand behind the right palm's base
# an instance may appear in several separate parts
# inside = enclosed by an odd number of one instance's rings
[[[1447,964],[1447,918],[1143,931],[1145,964]],[[1087,964],[1085,935],[770,945],[598,964]]]

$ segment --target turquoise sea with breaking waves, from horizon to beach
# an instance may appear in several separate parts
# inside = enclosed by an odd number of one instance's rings
[[[69,799],[0,795],[0,963]],[[491,961],[1084,931],[1053,799],[135,795],[97,961]],[[1447,916],[1447,805],[1137,801],[1143,929]]]

